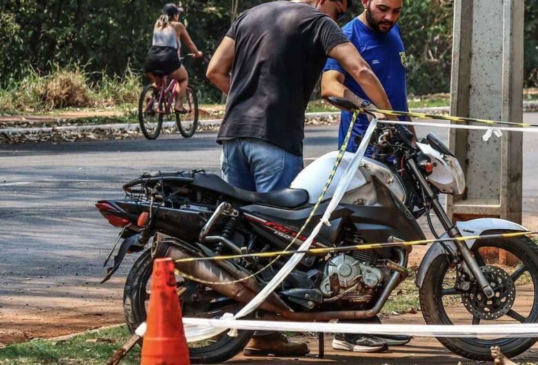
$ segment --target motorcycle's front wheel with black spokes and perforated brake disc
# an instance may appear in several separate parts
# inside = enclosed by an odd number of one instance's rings
[[[498,233],[498,232],[497,232]],[[419,291],[422,315],[427,324],[517,324],[538,322],[538,246],[527,237],[477,240],[472,253],[486,275],[495,297],[488,299],[475,283],[470,289],[455,289],[456,268],[447,255],[437,257]],[[499,264],[509,253],[510,266]],[[510,257],[510,255],[508,255]],[[527,351],[538,338],[438,337],[448,350],[478,361],[490,361],[490,346],[515,357]]]

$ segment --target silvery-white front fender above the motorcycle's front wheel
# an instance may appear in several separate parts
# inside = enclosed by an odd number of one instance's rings
[[[482,234],[488,234],[488,231],[528,231],[525,227],[518,225],[517,223],[510,222],[509,220],[497,219],[497,218],[479,218],[473,220],[467,220],[465,222],[456,222],[461,236],[481,236]],[[448,238],[448,235],[444,233],[441,238]],[[476,240],[467,240],[467,246],[472,248]],[[456,245],[453,242],[445,242],[446,247],[450,247],[452,251],[456,252]],[[424,283],[424,277],[426,271],[432,262],[440,255],[445,255],[445,250],[439,242],[435,242],[426,251],[422,262],[420,263],[419,272],[417,273],[417,280],[415,281],[419,289]]]

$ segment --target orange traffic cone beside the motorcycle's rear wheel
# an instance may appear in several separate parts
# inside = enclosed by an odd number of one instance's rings
[[[153,264],[147,322],[141,365],[189,365],[174,263],[170,258],[157,259]]]

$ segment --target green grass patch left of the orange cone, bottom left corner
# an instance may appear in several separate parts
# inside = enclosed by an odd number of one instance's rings
[[[0,348],[1,365],[105,364],[112,353],[128,340],[126,326],[83,333],[69,340],[34,340]],[[121,364],[139,364],[140,347],[123,358]]]

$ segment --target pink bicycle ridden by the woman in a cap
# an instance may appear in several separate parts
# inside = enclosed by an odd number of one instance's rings
[[[187,93],[183,100],[185,114],[175,112],[175,86],[177,81],[170,80],[166,85],[166,75],[161,72],[153,72],[161,80],[155,85],[144,86],[140,94],[138,104],[138,119],[140,129],[148,139],[155,139],[161,133],[163,121],[170,121],[172,114],[175,114],[177,129],[181,136],[185,138],[192,137],[198,127],[198,99],[196,92],[190,85],[187,87]]]

